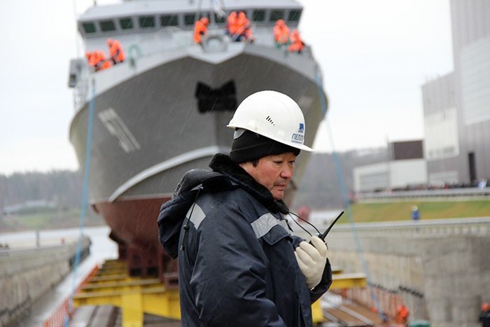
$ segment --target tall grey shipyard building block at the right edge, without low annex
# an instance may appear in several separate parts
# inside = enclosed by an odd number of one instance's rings
[[[422,86],[428,183],[490,177],[490,3],[451,0],[454,71]]]

